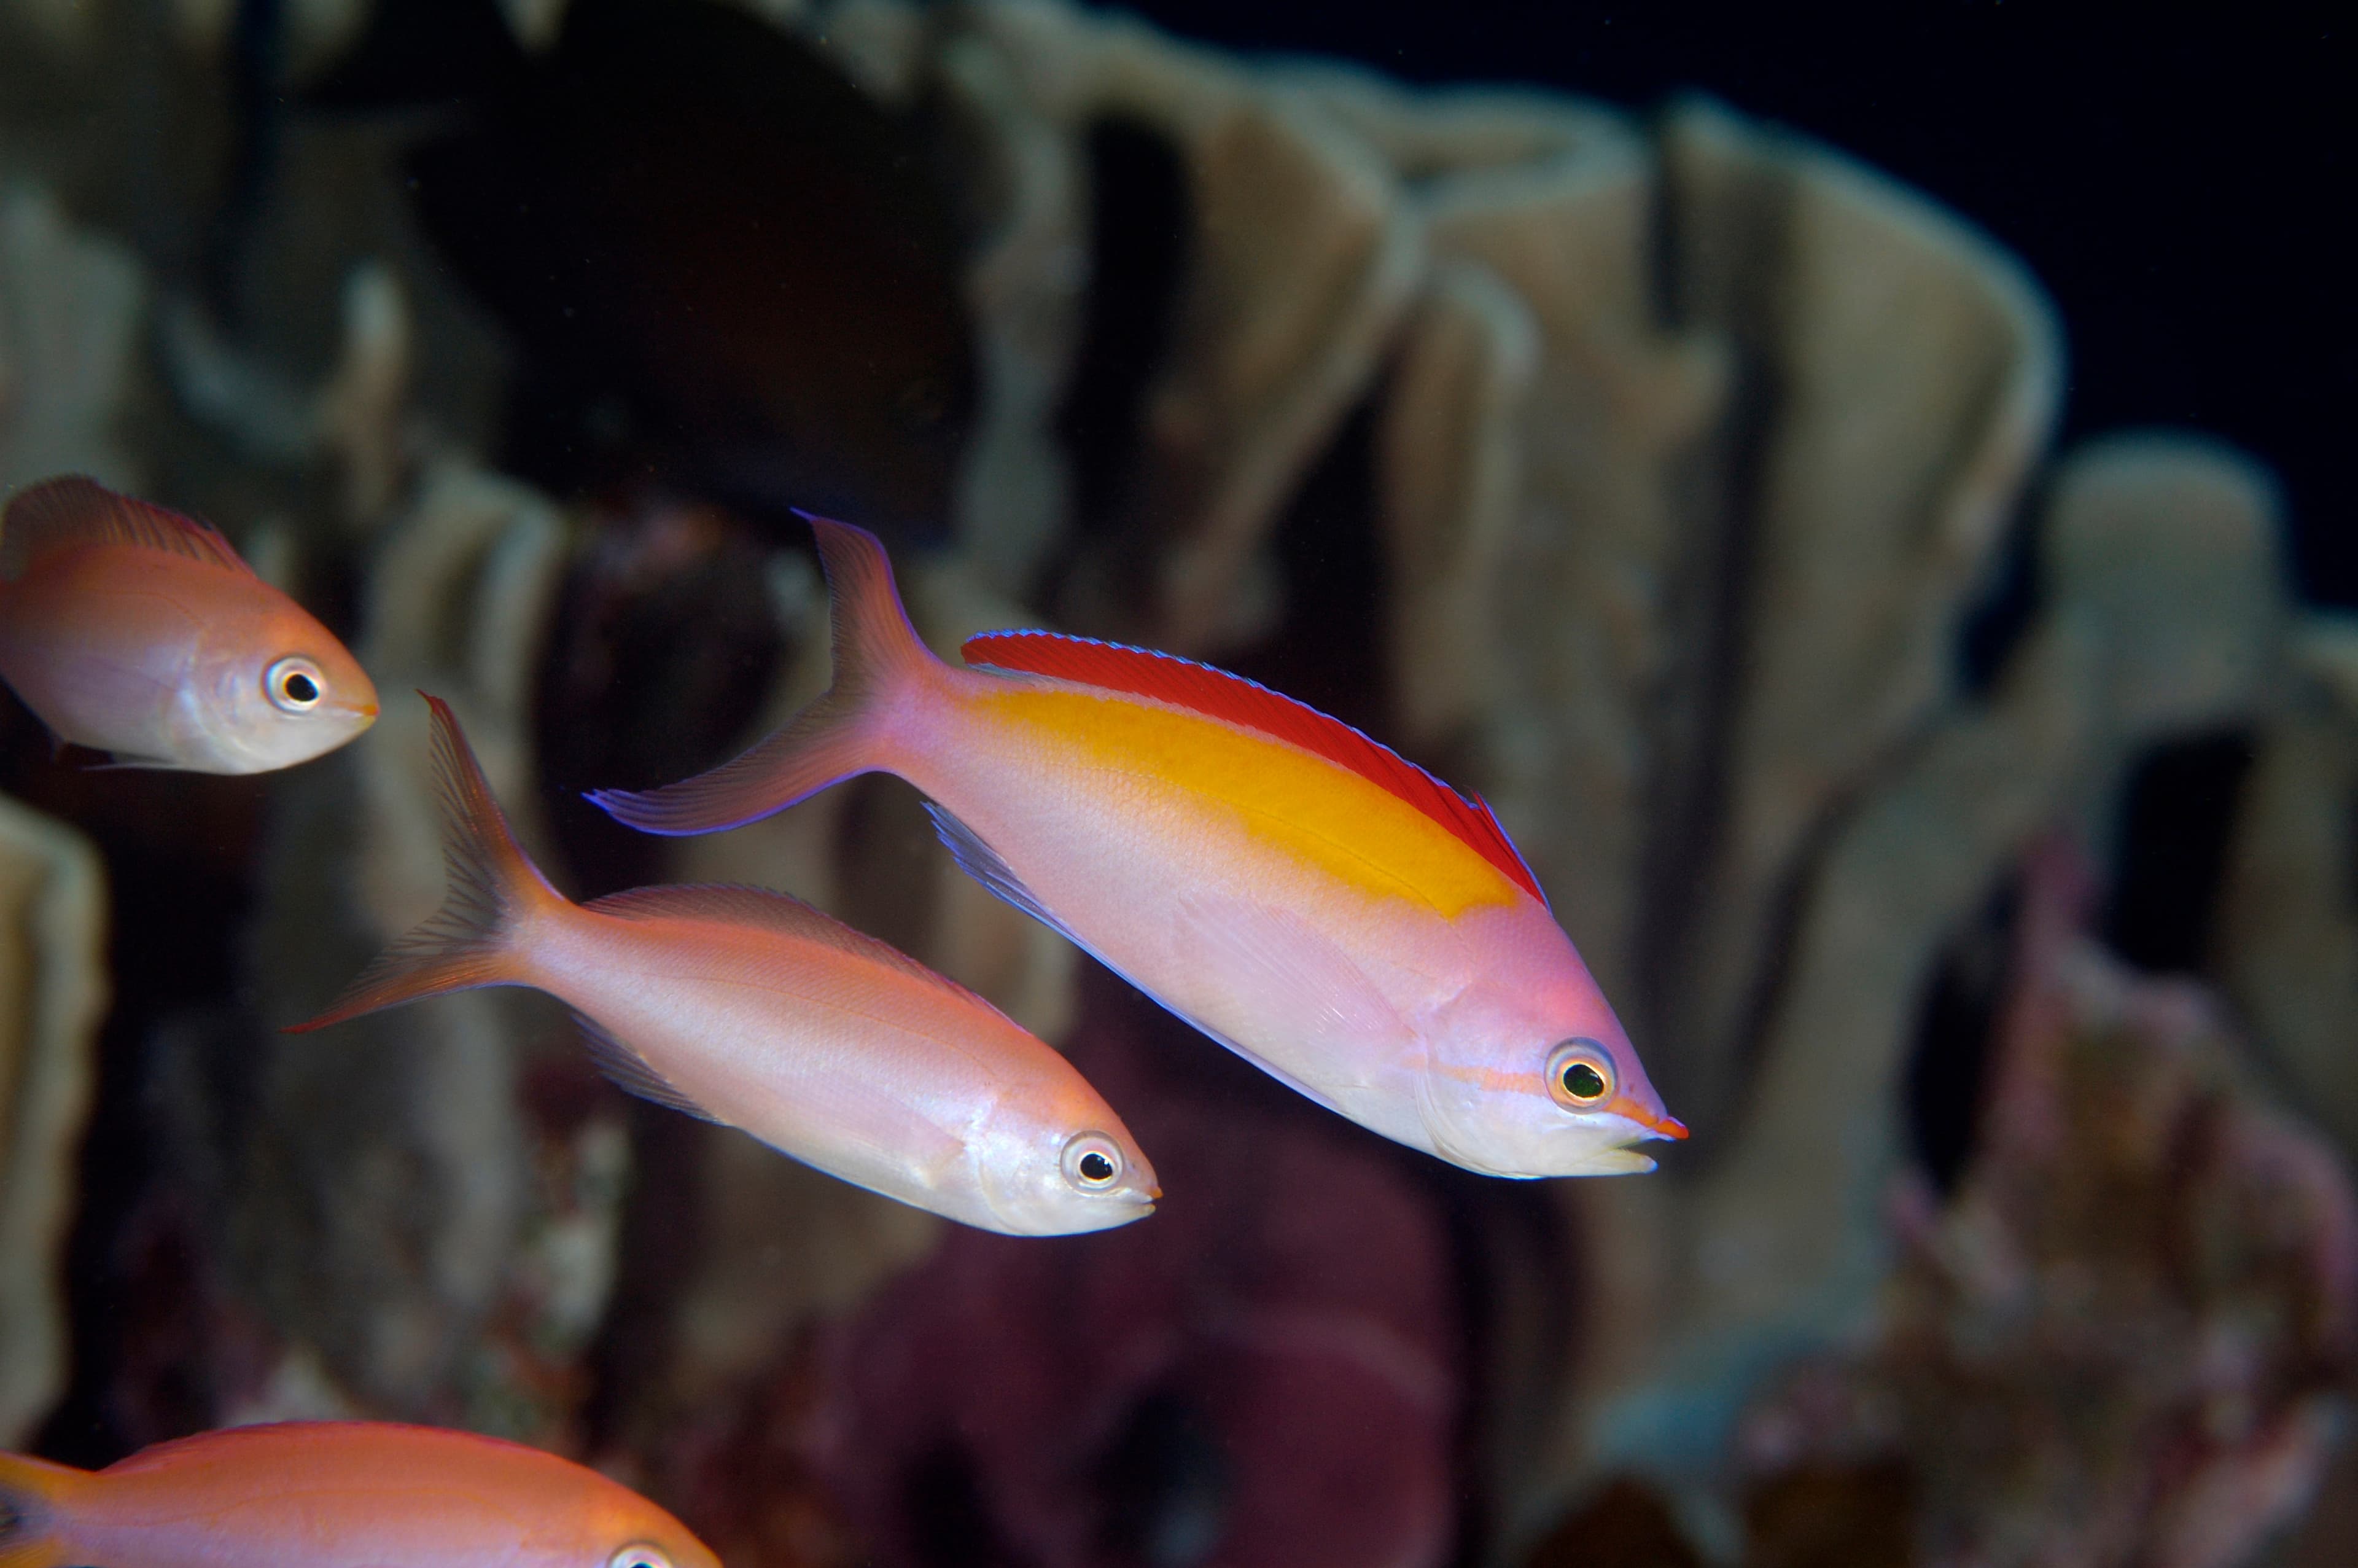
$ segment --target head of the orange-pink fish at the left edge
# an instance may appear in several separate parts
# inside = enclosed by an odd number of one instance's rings
[[[266,773],[311,762],[377,722],[377,686],[361,660],[292,599],[271,592],[236,627],[205,639],[193,714],[215,771]]]

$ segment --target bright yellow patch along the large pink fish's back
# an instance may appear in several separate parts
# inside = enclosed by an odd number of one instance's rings
[[[986,707],[979,719],[1040,733],[1096,771],[1184,790],[1262,846],[1361,894],[1424,903],[1443,920],[1521,896],[1398,795],[1240,724],[1045,679],[1009,679],[979,703]]]

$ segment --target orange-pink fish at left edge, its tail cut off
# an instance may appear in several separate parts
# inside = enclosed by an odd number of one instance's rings
[[[118,766],[266,773],[377,719],[358,660],[229,540],[78,476],[0,519],[0,679]]]

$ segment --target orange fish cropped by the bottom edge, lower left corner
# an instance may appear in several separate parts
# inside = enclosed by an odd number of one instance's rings
[[[281,1422],[99,1471],[0,1455],[0,1568],[719,1568],[689,1528],[538,1448]]]

